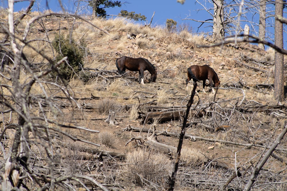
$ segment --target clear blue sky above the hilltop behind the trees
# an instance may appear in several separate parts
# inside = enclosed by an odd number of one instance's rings
[[[61,8],[59,6],[59,0],[35,0],[34,7],[32,11],[44,11],[46,9],[51,9],[55,12],[61,11]],[[63,3],[65,9],[68,12],[75,12],[75,6],[74,4],[77,2],[82,2],[81,6],[86,5],[86,2],[83,2],[81,0],[61,0]],[[148,23],[150,22],[150,19],[152,17],[152,14],[155,11],[155,15],[152,21],[152,26],[160,25],[164,27],[166,19],[173,19],[174,21],[177,21],[178,24],[180,23],[187,23],[190,27],[192,27],[192,32],[212,32],[212,23],[210,24],[203,24],[199,29],[198,27],[201,25],[199,22],[191,21],[191,20],[181,20],[187,17],[187,15],[190,15],[188,18],[196,19],[196,20],[207,20],[212,19],[212,15],[210,15],[205,10],[199,10],[203,9],[199,3],[195,3],[195,1],[192,0],[186,0],[185,3],[182,5],[180,3],[177,3],[177,0],[126,0],[121,2],[127,2],[123,4],[121,7],[114,7],[114,8],[108,8],[106,9],[106,12],[108,15],[117,15],[122,9],[127,11],[135,11],[135,13],[141,13],[141,15],[145,15],[147,17]],[[200,2],[205,2],[204,0]],[[25,8],[29,5],[30,1],[22,1],[15,3],[14,5],[14,11],[19,10],[25,10]],[[48,6],[47,6],[48,5]],[[7,7],[7,0],[1,0],[0,6]],[[206,7],[212,8],[213,5],[210,3],[205,4]],[[91,13],[91,9],[89,6],[84,7],[84,9],[81,10],[80,13]],[[252,17],[254,20],[254,23],[258,23],[258,19],[256,16],[252,15],[252,11],[250,10],[244,10],[251,12],[250,18]],[[213,13],[213,11],[210,11]],[[249,19],[249,18],[248,18]],[[141,22],[144,24],[144,22]],[[254,26],[254,23],[251,23],[251,25]],[[244,28],[245,23],[241,23],[241,27]],[[256,26],[256,25],[255,25]],[[252,28],[251,28],[252,29]],[[256,28],[255,28],[256,30]],[[270,30],[271,33],[273,33],[273,27],[270,29],[267,29],[267,36],[270,38],[273,38],[273,35],[268,33],[268,30]],[[286,36],[286,33],[284,33]],[[255,34],[257,36],[257,34]],[[286,38],[284,36],[285,42],[284,47],[286,49]]]

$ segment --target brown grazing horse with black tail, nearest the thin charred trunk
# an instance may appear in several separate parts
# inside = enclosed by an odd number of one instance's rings
[[[205,80],[209,81],[211,87],[217,87],[220,85],[220,81],[216,72],[206,64],[203,66],[192,65],[187,69],[187,79],[185,80],[186,88],[191,78],[193,79],[193,84],[199,80],[203,80],[203,92],[205,92]],[[214,85],[212,84],[212,81]],[[212,92],[214,93],[214,89],[212,89]]]

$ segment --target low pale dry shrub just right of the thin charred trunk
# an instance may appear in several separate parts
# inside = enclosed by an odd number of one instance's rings
[[[176,153],[172,153],[172,157],[175,157]],[[188,167],[190,169],[196,168],[204,162],[205,156],[201,154],[197,149],[183,146],[180,153],[181,166]]]

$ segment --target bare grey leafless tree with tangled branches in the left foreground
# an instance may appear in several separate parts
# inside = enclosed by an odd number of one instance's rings
[[[3,140],[2,138],[5,137],[5,132],[8,131],[8,129],[14,129],[15,131],[14,137],[9,137],[9,139],[13,141],[13,144],[8,152],[7,142],[3,141],[0,143],[2,151],[1,159],[3,159],[0,161],[1,190],[20,190],[20,188],[30,190],[31,186],[33,188],[40,188],[40,190],[46,190],[48,188],[53,190],[58,186],[64,190],[73,190],[73,185],[79,184],[83,186],[83,182],[85,181],[91,182],[94,186],[102,190],[107,190],[94,178],[80,174],[65,174],[65,172],[58,167],[61,164],[59,164],[57,160],[56,146],[59,146],[58,142],[61,142],[63,137],[67,137],[73,141],[82,141],[99,146],[86,139],[74,137],[62,130],[63,128],[82,129],[94,133],[98,133],[98,131],[93,131],[86,127],[65,124],[57,119],[57,115],[63,115],[63,113],[59,103],[46,92],[45,88],[49,86],[53,86],[57,91],[61,91],[69,100],[67,104],[71,108],[76,107],[77,109],[81,109],[81,106],[71,96],[71,90],[68,87],[47,80],[48,78],[46,78],[51,72],[57,71],[57,67],[62,62],[67,62],[67,57],[63,57],[63,59],[55,63],[54,60],[45,54],[46,52],[38,50],[38,47],[30,44],[34,41],[51,43],[45,28],[45,23],[42,22],[42,19],[45,17],[71,17],[82,19],[84,22],[88,21],[76,14],[71,15],[65,12],[46,13],[37,16],[29,15],[30,19],[26,23],[24,32],[16,34],[17,25],[28,15],[34,1],[30,1],[27,10],[18,18],[14,18],[14,3],[15,1],[9,0],[7,12],[2,10],[2,13],[7,13],[8,22],[5,20],[0,21],[2,33],[5,34],[5,38],[0,42],[0,48],[13,55],[13,66],[5,66],[5,71],[0,73],[0,105],[3,116],[3,131],[0,135],[0,140]],[[46,34],[46,39],[28,38],[32,26],[35,23],[42,26],[42,30]],[[95,25],[93,26],[96,27]],[[41,68],[42,72],[40,73],[34,72],[34,68],[30,68],[22,58],[24,47],[32,48],[37,54],[42,56],[43,59],[48,60],[50,67],[45,69]],[[24,71],[23,67],[25,69]],[[40,87],[38,93],[33,93],[32,91],[35,85]],[[32,111],[35,107],[38,109],[36,113]],[[49,112],[47,111],[53,113],[52,117],[48,115]],[[7,121],[4,115],[5,112],[11,112],[13,115],[16,115],[17,121],[13,123],[10,122],[11,120]],[[44,153],[46,157],[41,156],[40,153]],[[42,166],[39,163],[42,160],[46,162],[46,166]],[[29,185],[26,184],[27,182],[30,182]]]

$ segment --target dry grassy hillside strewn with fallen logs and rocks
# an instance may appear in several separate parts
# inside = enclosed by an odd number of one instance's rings
[[[18,37],[23,35],[29,19],[25,17],[18,25]],[[187,31],[170,33],[125,19],[85,19],[90,23],[47,16],[28,33],[27,40],[31,41],[23,52],[35,68],[31,71],[22,68],[20,82],[49,68],[48,60],[41,54],[54,59],[57,52],[49,42],[57,34],[66,36],[72,31],[77,46],[84,48],[84,65],[68,84],[48,75],[32,86],[34,97],[47,95],[54,107],[47,104],[48,99],[34,101],[30,105],[31,115],[37,120],[36,117],[46,116],[63,126],[35,120],[43,128],[39,135],[30,132],[31,156],[27,163],[31,174],[36,174],[41,183],[31,181],[28,176],[25,185],[36,190],[39,185],[48,184],[39,174],[48,179],[55,176],[57,181],[59,177],[81,174],[108,190],[168,190],[175,157],[173,147],[178,146],[183,125],[183,115],[174,116],[185,112],[193,87],[191,80],[186,89],[187,68],[207,64],[218,74],[220,86],[216,94],[211,90],[204,93],[202,81],[197,83],[198,94],[187,120],[185,133],[189,137],[183,140],[175,190],[244,188],[266,148],[284,129],[287,116],[286,103],[278,104],[273,98],[274,50],[260,50],[250,44],[198,48],[197,45],[213,42],[204,35]],[[138,72],[119,75],[115,60],[121,56],[148,59],[157,70],[156,82],[148,82],[148,71],[144,72],[145,85],[139,83]],[[12,83],[9,72],[3,72],[3,76],[3,96],[13,105],[11,92],[5,88]],[[7,105],[1,107],[2,112],[9,109]],[[105,122],[112,111],[116,125]],[[150,120],[144,117],[156,112],[172,114],[168,114],[171,117],[167,120],[162,116]],[[15,129],[11,124],[18,123],[17,120],[17,113],[3,112],[2,131],[7,127],[8,137],[1,142],[5,153],[13,145]],[[169,147],[162,149],[157,143]],[[284,137],[263,166],[252,190],[287,189],[286,146]],[[4,150],[0,157],[2,170]],[[65,185],[68,180],[75,190],[97,188],[95,183],[78,178],[59,181],[62,185],[55,190],[72,190]]]

